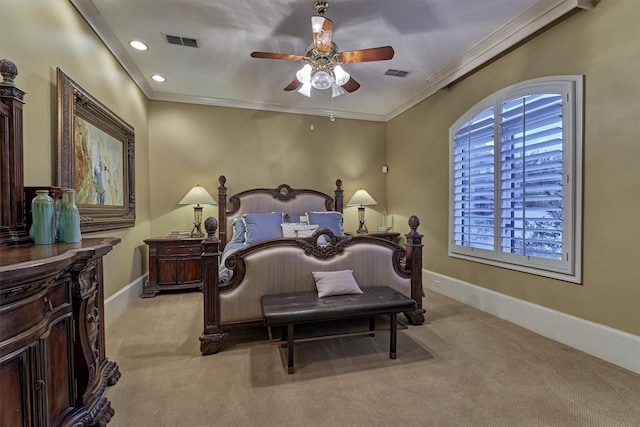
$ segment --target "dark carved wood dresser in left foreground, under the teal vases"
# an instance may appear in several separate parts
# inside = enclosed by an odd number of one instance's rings
[[[102,258],[116,238],[0,248],[0,425],[104,426]]]

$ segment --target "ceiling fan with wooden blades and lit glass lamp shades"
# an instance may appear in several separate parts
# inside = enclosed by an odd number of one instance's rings
[[[333,22],[324,17],[324,13],[329,9],[329,3],[326,1],[314,1],[313,8],[319,16],[311,17],[313,42],[307,46],[305,56],[286,53],[251,52],[252,58],[284,59],[305,63],[296,73],[296,78],[284,90],[297,90],[308,97],[311,97],[312,87],[320,90],[331,88],[333,97],[347,92],[355,92],[360,87],[360,83],[344,71],[342,64],[383,61],[393,58],[394,52],[391,46],[339,52],[338,46],[331,41]]]

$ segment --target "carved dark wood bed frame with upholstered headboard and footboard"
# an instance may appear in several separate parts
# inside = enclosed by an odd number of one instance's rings
[[[260,294],[262,289],[255,289],[256,286],[262,287],[263,276],[260,276],[260,280],[256,280],[255,277],[253,279],[245,277],[245,274],[248,276],[251,268],[258,264],[255,258],[261,256],[270,256],[272,258],[278,256],[291,257],[293,254],[293,256],[297,257],[295,265],[303,265],[303,267],[295,267],[294,270],[300,271],[291,272],[291,274],[297,274],[302,277],[301,271],[304,270],[304,279],[300,279],[300,277],[282,278],[283,282],[290,282],[289,288],[294,286],[293,289],[287,290],[288,292],[309,290],[308,283],[304,285],[301,283],[301,289],[295,289],[295,286],[297,286],[297,282],[308,282],[307,275],[309,280],[312,281],[311,274],[307,274],[311,268],[316,269],[318,266],[322,267],[323,264],[326,264],[327,268],[330,269],[333,265],[331,263],[342,262],[336,260],[340,260],[340,257],[343,259],[348,258],[348,255],[345,254],[352,254],[353,251],[356,253],[353,257],[356,257],[355,259],[359,262],[368,258],[367,254],[369,252],[365,252],[367,250],[372,251],[372,257],[374,256],[373,252],[378,257],[382,253],[384,259],[389,261],[387,264],[393,266],[392,269],[389,268],[389,270],[392,270],[391,274],[409,284],[405,293],[417,303],[417,309],[413,312],[405,313],[405,316],[411,324],[424,323],[425,310],[422,308],[422,235],[417,231],[420,221],[416,216],[412,216],[409,219],[410,232],[405,234],[406,246],[404,248],[378,237],[366,235],[335,236],[329,229],[320,229],[308,238],[273,239],[247,245],[226,260],[227,267],[233,269],[233,275],[229,281],[220,283],[219,264],[222,255],[221,251],[228,244],[232,235],[234,218],[238,218],[244,213],[268,213],[273,211],[292,215],[303,215],[308,211],[342,212],[343,190],[341,188],[341,180],[336,180],[336,189],[333,197],[321,191],[294,189],[289,185],[282,184],[276,188],[245,190],[227,199],[226,178],[220,176],[219,183],[218,220],[213,217],[207,218],[205,221],[207,237],[202,242],[204,293],[204,330],[200,336],[200,351],[202,354],[217,353],[230,329],[263,325],[261,316],[256,316],[255,313],[252,316],[248,316],[247,319],[239,318],[225,321],[222,313],[223,304],[221,304],[221,299],[224,300],[228,295],[243,292],[243,285],[247,281],[250,283],[250,285],[246,285],[247,287],[253,286],[251,291],[247,291],[252,292],[252,299],[248,302],[248,305],[255,305],[254,300],[257,298],[259,307],[260,295],[274,293],[269,291],[269,289],[273,289],[274,285],[272,283],[265,284],[263,294]],[[220,225],[219,238],[216,238],[215,232],[218,225]],[[329,244],[318,245],[317,239],[320,235],[326,235],[330,240]],[[279,259],[279,261],[283,261],[283,259]],[[349,267],[347,266],[347,268]],[[290,270],[286,271],[288,274]],[[354,274],[356,274],[355,271]],[[280,279],[280,277],[265,277],[264,282],[269,282],[270,280],[271,282],[276,282]],[[374,284],[371,285],[373,286]],[[237,302],[235,304],[236,306],[234,307],[237,308]]]

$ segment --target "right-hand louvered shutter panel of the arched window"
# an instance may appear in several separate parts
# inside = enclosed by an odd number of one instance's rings
[[[562,94],[500,107],[500,250],[562,260]]]

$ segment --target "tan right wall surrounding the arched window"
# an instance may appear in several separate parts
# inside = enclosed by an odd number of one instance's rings
[[[420,213],[425,268],[640,334],[638,5],[603,0],[388,123],[389,203]],[[505,86],[559,74],[585,75],[583,285],[449,258],[449,126]]]

